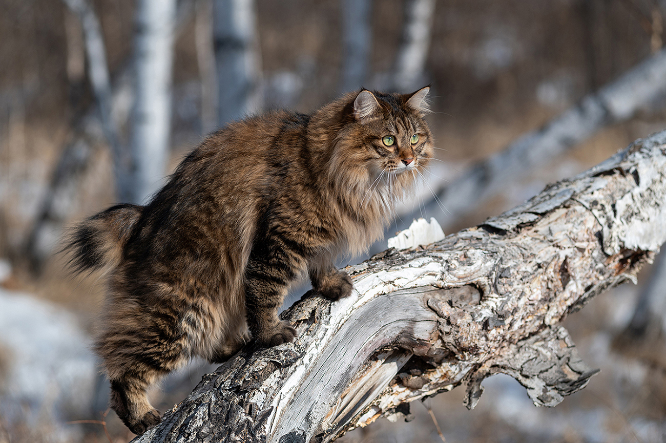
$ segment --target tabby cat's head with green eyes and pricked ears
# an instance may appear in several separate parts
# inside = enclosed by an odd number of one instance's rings
[[[338,143],[340,163],[371,183],[408,185],[433,157],[432,135],[424,115],[430,87],[411,94],[362,90],[348,96],[346,121]]]

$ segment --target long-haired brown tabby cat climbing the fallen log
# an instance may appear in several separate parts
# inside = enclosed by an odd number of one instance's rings
[[[259,346],[293,340],[277,312],[303,272],[323,296],[350,294],[336,256],[382,236],[432,158],[428,90],[362,90],[310,115],[231,123],[148,205],[111,207],[71,231],[73,266],[108,272],[95,348],[132,432],[159,422],[146,390],[188,358],[226,360],[248,327]]]

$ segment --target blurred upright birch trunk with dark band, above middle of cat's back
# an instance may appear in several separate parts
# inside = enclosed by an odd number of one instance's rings
[[[262,107],[261,59],[253,0],[214,0],[218,125]]]

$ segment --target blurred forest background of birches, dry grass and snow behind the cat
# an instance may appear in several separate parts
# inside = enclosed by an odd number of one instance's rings
[[[416,206],[450,233],[666,128],[665,16],[662,0],[0,0],[0,443],[131,440],[89,351],[101,278],[67,276],[57,241],[145,201],[218,125],[431,83],[440,162]],[[473,411],[458,388],[342,441],[666,442],[665,261],[567,319],[601,373],[556,408],[494,376]],[[206,370],[170,377],[161,410]]]

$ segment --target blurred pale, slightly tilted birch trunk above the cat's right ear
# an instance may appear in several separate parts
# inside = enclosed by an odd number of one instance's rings
[[[405,19],[396,65],[394,85],[398,91],[411,92],[423,87],[426,60],[430,49],[435,0],[405,0]]]

